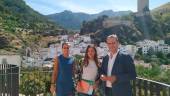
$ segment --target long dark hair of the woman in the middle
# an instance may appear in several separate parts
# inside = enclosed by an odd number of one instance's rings
[[[96,64],[96,66],[99,67],[97,50],[96,50],[95,46],[92,46],[92,45],[88,45],[88,46],[87,46],[86,53],[85,53],[85,57],[84,57],[84,62],[83,62],[84,66],[87,67],[88,64],[89,64],[89,57],[88,57],[88,54],[87,54],[89,48],[93,48],[93,49],[94,49],[94,51],[95,51],[95,54],[94,54],[94,62],[95,62],[95,64]]]

